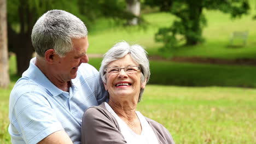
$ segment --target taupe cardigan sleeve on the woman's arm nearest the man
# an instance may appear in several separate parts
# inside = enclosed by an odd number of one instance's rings
[[[82,122],[82,144],[126,143],[117,122],[109,114],[100,107],[90,107],[86,110]]]

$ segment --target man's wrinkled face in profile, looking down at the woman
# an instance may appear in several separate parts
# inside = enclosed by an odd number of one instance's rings
[[[80,39],[72,39],[73,49],[66,53],[65,57],[57,56],[55,61],[58,79],[63,82],[70,81],[77,76],[77,70],[81,63],[88,63],[86,54],[89,43],[87,36]]]

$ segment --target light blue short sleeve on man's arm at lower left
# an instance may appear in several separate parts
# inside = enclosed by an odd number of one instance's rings
[[[63,130],[48,100],[37,93],[21,95],[12,107],[11,115],[10,135],[15,139],[15,134],[19,134],[26,143],[37,143],[55,131]]]

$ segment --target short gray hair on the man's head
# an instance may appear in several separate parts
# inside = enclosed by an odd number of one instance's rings
[[[32,29],[32,44],[37,55],[54,49],[63,57],[72,50],[72,38],[84,38],[88,34],[84,23],[64,10],[49,10],[42,15]]]

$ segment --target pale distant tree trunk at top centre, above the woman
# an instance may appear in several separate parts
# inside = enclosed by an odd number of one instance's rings
[[[138,25],[138,17],[141,13],[141,3],[139,0],[126,0],[126,8],[131,14],[135,15],[131,20],[128,20],[129,25]]]

